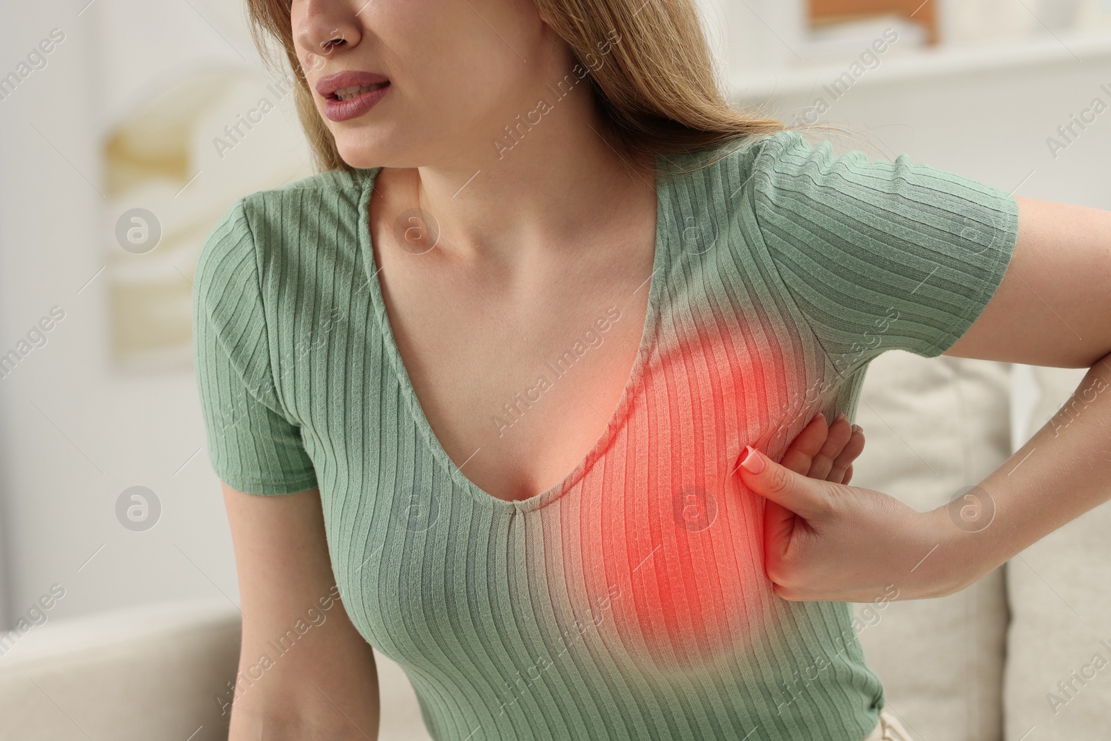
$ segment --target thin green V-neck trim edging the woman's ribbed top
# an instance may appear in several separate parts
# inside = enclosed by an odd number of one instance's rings
[[[456,464],[456,462],[451,460],[451,457],[448,455],[448,451],[444,450],[443,445],[440,443],[440,439],[437,437],[436,431],[432,430],[432,425],[429,423],[428,417],[424,414],[424,408],[421,407],[420,400],[417,397],[417,391],[413,388],[412,380],[409,377],[409,370],[406,368],[404,360],[401,358],[401,352],[398,349],[398,344],[393,336],[393,327],[390,323],[390,317],[386,310],[386,299],[382,296],[382,287],[378,280],[380,269],[378,268],[377,260],[374,259],[373,237],[370,233],[370,197],[374,192],[374,183],[377,182],[378,174],[381,172],[382,168],[359,170],[362,191],[359,197],[358,207],[358,247],[359,251],[362,253],[364,277],[370,289],[369,293],[371,307],[373,309],[374,318],[378,320],[379,329],[382,333],[382,343],[384,346],[386,356],[388,357],[390,366],[393,369],[393,374],[401,387],[404,403],[409,408],[418,431],[421,437],[424,438],[424,443],[429,451],[444,468],[444,470],[448,471],[452,481],[462,487],[479,505],[503,512],[527,512],[538,510],[546,504],[556,501],[573,489],[574,485],[578,484],[593,468],[594,463],[610,448],[614,435],[624,424],[630,407],[633,403],[635,389],[643,377],[644,366],[648,363],[651,349],[655,343],[655,333],[659,323],[658,314],[660,309],[660,294],[663,290],[663,282],[660,280],[659,273],[665,263],[668,252],[669,231],[667,229],[667,217],[670,213],[669,209],[672,206],[672,188],[674,186],[670,176],[663,176],[661,159],[662,158],[660,156],[655,157],[655,252],[652,257],[652,273],[645,280],[649,284],[648,308],[644,312],[644,323],[641,328],[640,343],[637,347],[637,357],[633,359],[632,369],[629,372],[629,377],[625,379],[624,388],[621,390],[621,398],[618,400],[618,404],[614,408],[613,413],[610,415],[610,419],[605,424],[605,429],[602,431],[601,435],[599,435],[598,440],[594,441],[594,444],[591,445],[590,450],[587,451],[585,455],[582,457],[579,463],[554,484],[526,499],[501,499],[500,497],[494,497],[471,481]],[[641,288],[643,288],[643,284]],[[466,465],[466,462],[463,464]]]

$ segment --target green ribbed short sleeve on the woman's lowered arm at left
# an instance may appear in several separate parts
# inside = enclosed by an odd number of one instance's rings
[[[239,491],[317,485],[300,428],[274,388],[256,247],[240,199],[212,229],[193,280],[193,360],[209,460]]]

